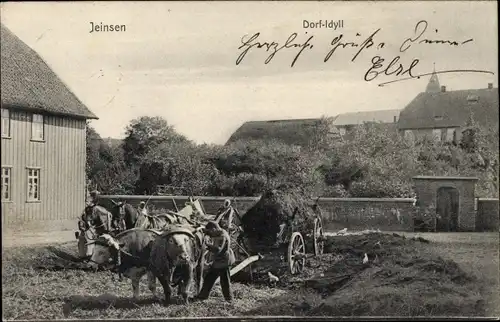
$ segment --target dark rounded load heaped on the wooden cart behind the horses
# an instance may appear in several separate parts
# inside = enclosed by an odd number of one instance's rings
[[[260,200],[242,218],[243,230],[251,241],[252,250],[277,246],[277,234],[283,223],[292,224],[294,231],[312,231],[315,212],[312,200],[298,188],[281,186],[264,192]],[[283,236],[284,238],[285,236]]]

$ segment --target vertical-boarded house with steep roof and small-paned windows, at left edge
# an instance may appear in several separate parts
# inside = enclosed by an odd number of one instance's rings
[[[2,226],[61,230],[85,206],[86,121],[97,117],[1,25]]]

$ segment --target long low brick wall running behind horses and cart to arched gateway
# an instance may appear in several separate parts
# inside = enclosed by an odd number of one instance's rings
[[[115,201],[127,200],[134,206],[148,200],[148,196],[102,196],[100,204],[110,207],[109,199]],[[222,207],[225,197],[199,197],[205,212],[215,214]],[[148,208],[174,210],[172,199],[182,208],[187,197],[183,196],[153,196],[148,201]],[[236,208],[244,214],[258,200],[258,197],[238,197]],[[415,210],[413,199],[407,198],[321,198],[319,205],[323,211],[324,225],[328,230],[380,229],[385,231],[413,231],[412,215]],[[399,213],[399,216],[398,216]],[[398,219],[399,218],[399,219]],[[75,223],[76,227],[76,223]]]

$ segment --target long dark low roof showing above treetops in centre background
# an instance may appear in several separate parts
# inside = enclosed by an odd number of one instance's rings
[[[320,121],[320,118],[314,118],[245,122],[231,135],[227,143],[242,139],[276,139],[287,144],[307,145],[311,139],[311,131]]]

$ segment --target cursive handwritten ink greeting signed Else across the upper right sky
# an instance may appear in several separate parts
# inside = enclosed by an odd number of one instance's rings
[[[387,84],[420,78],[422,76],[431,75],[432,73],[417,73],[416,68],[420,62],[418,58],[412,58],[411,62],[405,62],[403,55],[407,53],[412,47],[418,45],[440,45],[447,47],[460,47],[464,45],[473,45],[474,39],[468,38],[464,40],[450,40],[450,39],[432,39],[428,36],[428,22],[421,20],[417,22],[411,35],[404,38],[399,46],[399,54],[390,58],[383,57],[380,52],[372,56],[369,60],[369,68],[364,74],[364,80],[367,82],[377,79],[381,75],[394,76],[396,79],[391,81],[381,82],[378,85],[384,86]],[[351,57],[351,62],[357,61],[358,57],[364,52],[380,51],[386,47],[386,42],[381,41],[380,38],[381,28],[372,32],[368,37],[361,37],[356,33],[355,38],[348,39],[344,34],[333,37],[330,41],[330,48],[323,58],[326,63],[334,59],[337,52],[342,50],[354,49]],[[438,30],[435,29],[435,33]],[[363,39],[358,41],[358,39]],[[261,40],[260,32],[252,36],[245,35],[241,38],[241,45],[238,47],[240,54],[236,59],[236,65],[240,65],[245,57],[250,53],[258,50],[264,50],[267,54],[264,64],[269,64],[275,57],[279,56],[280,52],[291,51],[295,54],[293,56],[290,67],[294,67],[299,60],[299,57],[305,55],[305,52],[311,51],[314,48],[314,36],[308,35],[306,32],[303,37],[297,33],[292,33],[283,43],[277,41],[263,41]],[[487,73],[494,74],[490,71],[475,70],[475,69],[454,69],[437,71],[436,74],[443,73]]]

